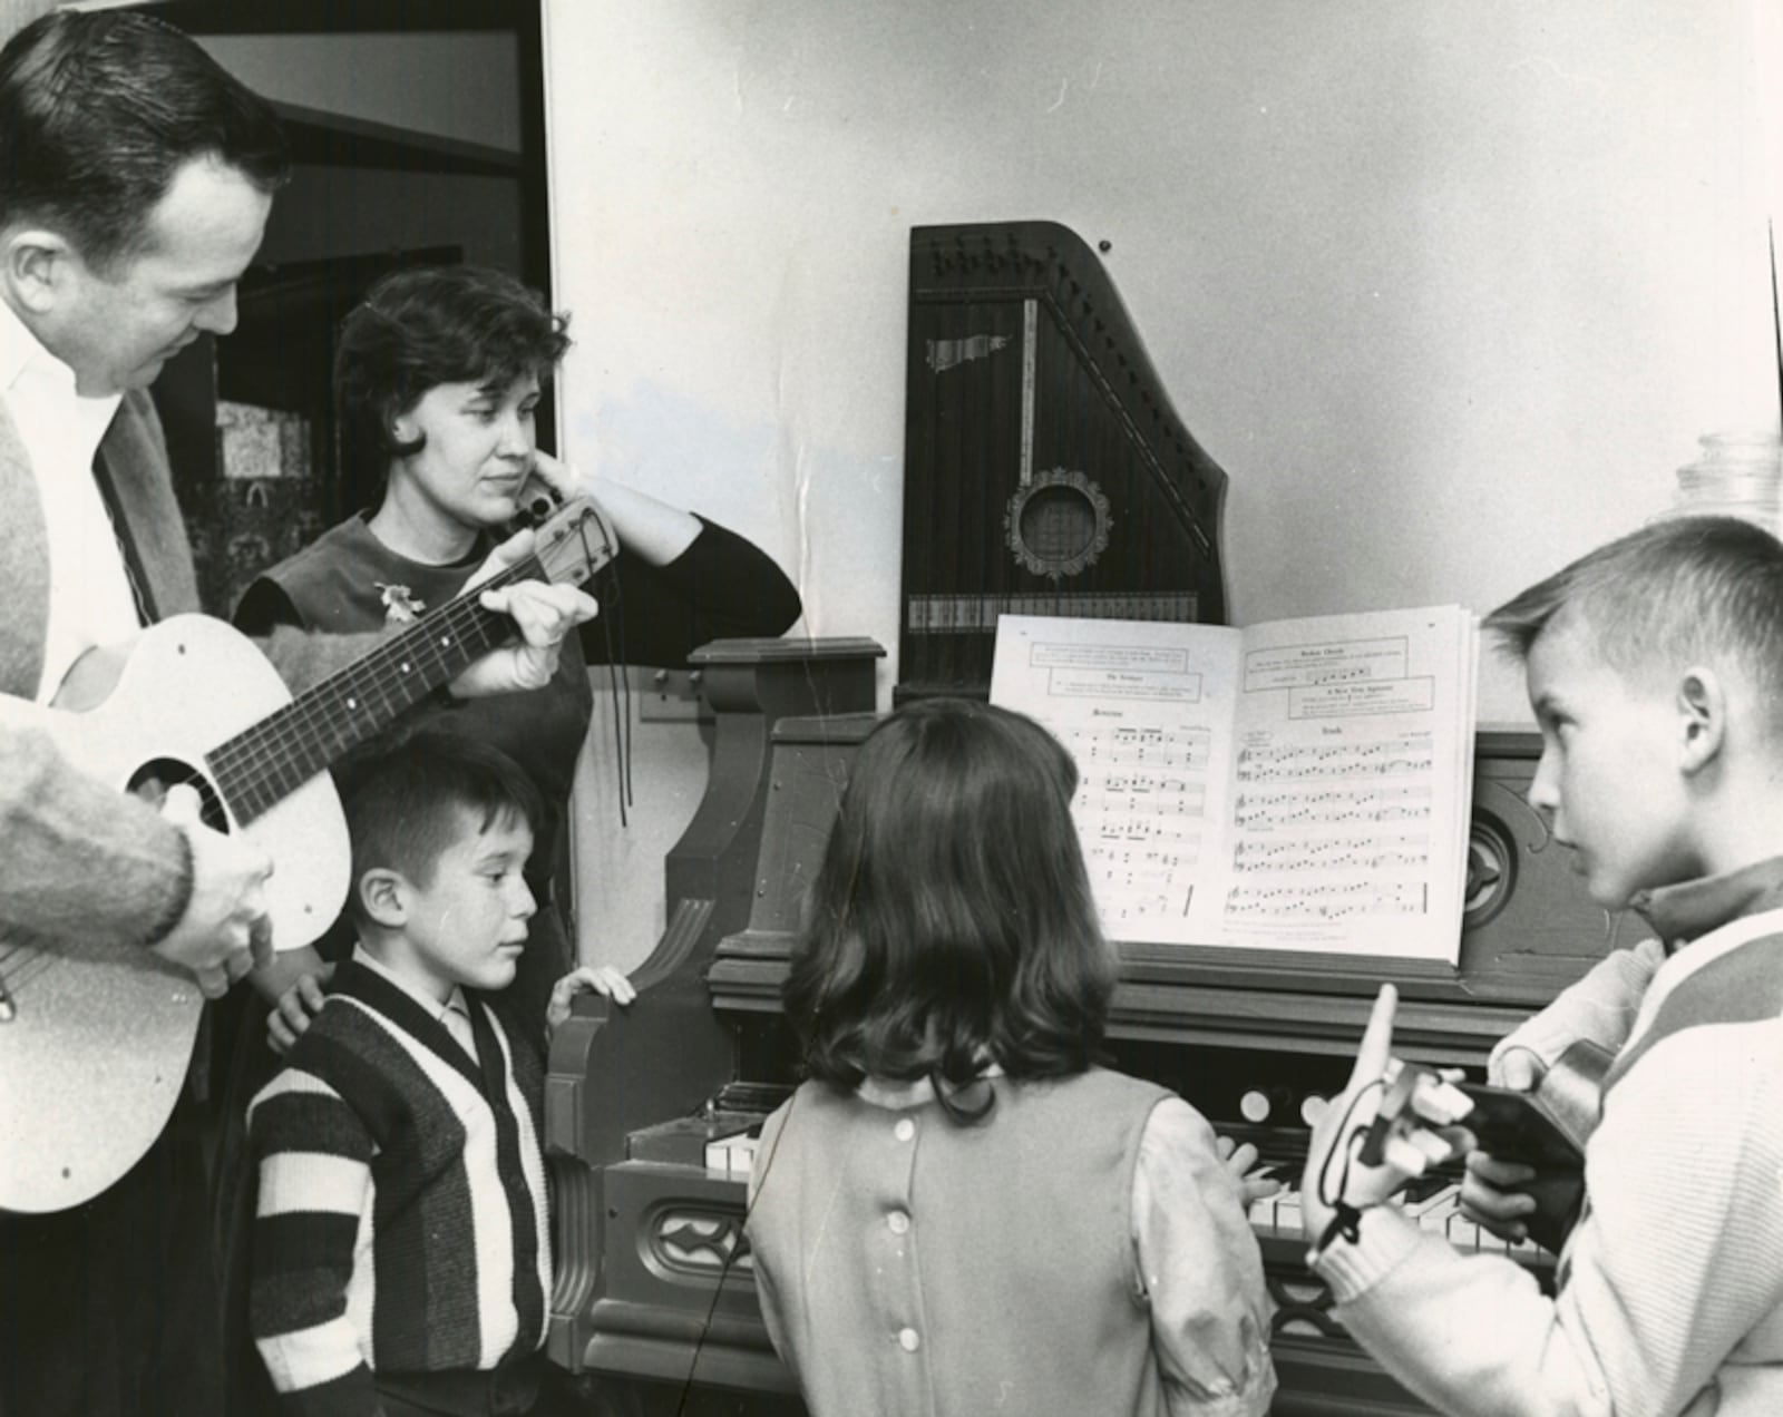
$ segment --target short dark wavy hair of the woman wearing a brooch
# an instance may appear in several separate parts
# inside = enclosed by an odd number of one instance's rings
[[[392,424],[442,383],[503,397],[519,380],[549,376],[569,349],[567,315],[487,266],[417,266],[383,276],[341,324],[335,406],[353,474],[367,483],[390,458],[412,458]]]

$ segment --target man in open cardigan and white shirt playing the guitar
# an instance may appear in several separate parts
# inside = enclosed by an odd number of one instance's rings
[[[255,94],[191,39],[134,12],[27,25],[0,52],[0,709],[87,708],[107,686],[89,651],[196,610],[146,389],[200,333],[234,328],[235,282],[289,157]],[[505,547],[489,570],[526,556],[526,544]],[[483,604],[512,615],[519,643],[467,670],[453,684],[460,695],[544,683],[563,635],[594,613],[571,586],[512,577]],[[376,642],[287,631],[266,649],[303,686]],[[64,679],[94,683],[73,702],[59,695]],[[228,690],[189,684],[185,697]],[[0,1216],[0,1412],[216,1412],[191,1109],[169,1094],[152,1114],[146,1155],[94,1187],[68,1176],[84,1203],[64,1207],[55,1184],[80,1162],[57,1159],[45,1185],[14,1185],[46,1148],[12,1109],[75,1116],[80,1100],[45,1096],[18,1044],[45,1028],[80,1036],[84,991],[53,993],[77,961],[96,975],[112,964],[162,979],[182,1003],[226,991],[276,943],[266,920],[276,863],[200,823],[191,799],[157,813],[94,781],[41,715],[23,725],[0,713],[0,1210],[55,1212]],[[66,1007],[41,1007],[46,996]],[[119,1082],[146,1071],[130,1068],[134,1028],[93,1028],[84,1048],[119,1050]],[[182,1052],[157,1069],[171,1071],[173,1093],[184,1064]],[[102,1125],[93,1132],[103,1141]]]

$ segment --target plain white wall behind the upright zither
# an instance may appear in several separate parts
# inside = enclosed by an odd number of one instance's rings
[[[895,647],[911,225],[1113,242],[1237,622],[1483,611],[1776,424],[1749,0],[546,11],[567,447],[815,633]]]

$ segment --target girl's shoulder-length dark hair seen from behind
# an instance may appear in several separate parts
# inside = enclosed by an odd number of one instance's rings
[[[1077,766],[1039,724],[929,699],[867,736],[786,977],[811,1077],[929,1078],[956,1118],[1011,1078],[1097,1062],[1114,991],[1070,816]],[[970,1091],[968,1091],[970,1089]],[[963,1105],[961,1094],[982,1093]]]

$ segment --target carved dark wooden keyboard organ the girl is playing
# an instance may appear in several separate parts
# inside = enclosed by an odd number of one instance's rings
[[[578,1000],[553,1048],[546,1143],[569,1184],[558,1246],[574,1282],[560,1283],[551,1353],[590,1380],[661,1394],[665,1412],[688,1381],[756,1405],[744,1410],[781,1401],[797,1412],[738,1249],[747,1182],[724,1164],[708,1167],[706,1148],[745,1132],[797,1080],[779,989],[804,882],[872,724],[870,713],[752,720],[749,731],[765,734],[765,752],[751,754],[765,811],[756,832],[729,843],[726,898],[672,900],[670,932],[638,973],[638,1002],[608,1011]],[[720,750],[724,725],[720,713]],[[1401,991],[1396,1052],[1480,1078],[1498,1037],[1628,943],[1617,932],[1631,921],[1589,904],[1523,800],[1537,756],[1533,734],[1480,736],[1458,966],[1120,946],[1114,1064],[1175,1089],[1223,1135],[1253,1141],[1291,1182],[1252,1208],[1278,1305],[1277,1413],[1426,1412],[1332,1319],[1300,1232],[1305,1114],[1341,1091],[1380,980],[1396,979]],[[715,784],[729,775],[720,768]],[[736,868],[745,856],[747,872]],[[685,948],[674,921],[690,911],[745,921]],[[1414,1200],[1421,1223],[1462,1248],[1503,1251],[1457,1216],[1451,1182],[1439,1176]],[[1551,1280],[1546,1253],[1524,1246],[1512,1258]]]

